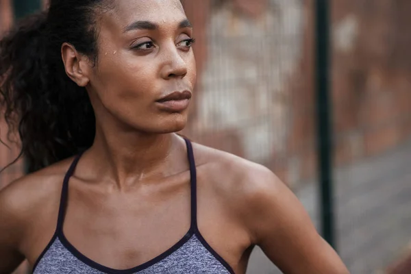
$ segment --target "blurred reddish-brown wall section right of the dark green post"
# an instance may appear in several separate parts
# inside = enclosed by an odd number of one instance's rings
[[[333,4],[334,126],[341,164],[410,136],[411,35],[402,30],[411,23],[411,5],[406,0]]]

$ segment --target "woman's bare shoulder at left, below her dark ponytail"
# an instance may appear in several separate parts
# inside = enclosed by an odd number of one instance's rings
[[[10,234],[20,242],[34,229],[36,220],[49,214],[60,199],[62,180],[70,160],[11,182],[0,191],[0,234]],[[30,230],[30,231],[29,231]]]

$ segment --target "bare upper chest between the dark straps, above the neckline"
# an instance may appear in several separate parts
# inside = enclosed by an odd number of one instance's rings
[[[71,195],[62,234],[87,258],[114,269],[143,264],[182,239],[190,228],[189,189],[162,195]]]

